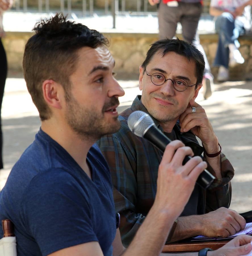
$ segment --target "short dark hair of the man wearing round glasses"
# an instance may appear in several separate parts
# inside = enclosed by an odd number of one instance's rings
[[[178,38],[162,39],[151,44],[151,48],[147,51],[145,61],[142,64],[143,72],[145,71],[147,65],[149,64],[155,53],[159,52],[162,54],[162,56],[164,56],[170,51],[186,57],[189,61],[195,61],[195,76],[197,77],[196,84],[200,84],[202,82],[205,69],[204,57],[195,46],[192,46],[191,44],[188,44],[183,40],[179,40]],[[195,89],[197,88],[197,85],[195,86]]]

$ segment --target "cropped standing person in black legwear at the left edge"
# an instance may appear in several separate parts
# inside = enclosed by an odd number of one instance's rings
[[[5,86],[5,80],[7,77],[7,58],[3,48],[1,38],[4,36],[3,30],[3,12],[11,8],[13,0],[0,0],[0,169],[3,169],[3,135],[2,135],[2,124],[1,124],[1,108],[3,102],[3,92]]]

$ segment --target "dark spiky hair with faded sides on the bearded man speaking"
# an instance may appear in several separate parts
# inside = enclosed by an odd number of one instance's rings
[[[109,42],[96,30],[66,21],[66,16],[61,13],[37,22],[33,30],[35,35],[25,46],[23,69],[28,91],[43,121],[51,117],[43,98],[43,81],[53,79],[60,83],[67,95],[70,90],[69,76],[75,71],[78,61],[76,52],[85,46],[107,46]]]

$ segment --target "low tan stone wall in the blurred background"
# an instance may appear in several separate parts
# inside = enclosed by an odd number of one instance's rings
[[[116,61],[115,72],[118,78],[133,79],[138,77],[139,65],[145,59],[145,54],[150,44],[158,39],[157,34],[134,34],[134,33],[104,33],[110,40],[109,49]],[[3,38],[6,49],[8,66],[11,71],[22,71],[22,57],[25,44],[32,36],[29,32],[7,32]],[[181,38],[181,35],[177,35]],[[200,35],[200,41],[205,49],[210,65],[212,65],[216,53],[218,35]],[[252,37],[241,36],[240,51],[245,63],[230,70],[232,80],[252,79]],[[216,76],[217,68],[212,68]]]

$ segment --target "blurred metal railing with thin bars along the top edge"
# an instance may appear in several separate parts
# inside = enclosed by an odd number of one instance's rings
[[[161,0],[162,1],[162,0]],[[148,0],[103,0],[97,5],[98,0],[14,0],[12,10],[18,12],[53,13],[62,12],[68,15],[76,15],[83,18],[93,15],[111,15],[113,28],[116,27],[117,15],[157,15],[156,6],[151,6]],[[210,0],[205,0],[207,6]],[[130,4],[129,4],[130,3]]]

